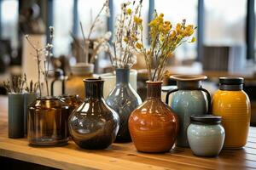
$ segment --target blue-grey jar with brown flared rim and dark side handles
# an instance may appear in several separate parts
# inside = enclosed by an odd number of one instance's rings
[[[177,134],[177,146],[189,147],[187,128],[190,116],[205,115],[211,103],[211,96],[206,89],[201,88],[201,81],[205,76],[175,75],[171,77],[177,81],[177,89],[166,94],[166,104],[169,103],[169,95],[172,95],[171,107],[177,113],[179,119],[179,132]]]

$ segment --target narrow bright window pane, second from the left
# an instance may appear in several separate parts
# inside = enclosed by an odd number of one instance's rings
[[[73,28],[73,0],[54,1],[54,27],[55,27],[55,39],[54,39],[54,54],[59,56],[61,54],[68,54],[70,51],[70,43],[72,37],[69,32]]]

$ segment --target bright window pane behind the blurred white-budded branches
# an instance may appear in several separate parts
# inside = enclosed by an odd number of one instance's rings
[[[106,0],[92,0],[92,1],[84,1],[79,0],[78,2],[78,9],[79,9],[79,22],[82,22],[82,25],[84,27],[84,36],[87,37],[90,31],[90,26],[95,20],[96,15],[100,12],[103,3],[105,3]],[[105,15],[105,11],[102,13],[102,23],[98,22],[98,25],[96,26],[96,30],[91,35],[91,38],[99,37],[104,35],[104,33],[107,31],[107,17]],[[79,24],[79,23],[78,23]],[[100,24],[100,25],[99,25]],[[79,24],[79,37],[82,38],[82,31],[80,29]]]

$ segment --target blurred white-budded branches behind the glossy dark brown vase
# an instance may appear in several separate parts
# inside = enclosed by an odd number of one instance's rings
[[[82,35],[83,35],[83,43],[84,44],[79,45],[79,47],[83,49],[86,64],[94,63],[94,61],[97,58],[97,55],[100,52],[105,51],[105,48],[108,47],[108,41],[111,37],[110,31],[106,32],[105,35],[103,35],[102,37],[98,37],[93,40],[93,50],[92,50],[92,53],[89,53],[90,52],[91,35],[96,30],[96,27],[100,26],[102,24],[102,15],[106,15],[107,17],[110,16],[108,3],[109,3],[109,0],[106,0],[105,3],[103,3],[102,8],[100,9],[99,13],[96,14],[96,18],[93,20],[93,22],[90,26],[90,31],[89,31],[87,37],[85,37],[84,28],[83,28],[82,23],[80,22],[80,28],[81,28]],[[105,14],[103,14],[104,11],[105,11]],[[74,36],[72,36],[72,37],[74,39]],[[89,54],[90,54],[90,58],[89,58]]]

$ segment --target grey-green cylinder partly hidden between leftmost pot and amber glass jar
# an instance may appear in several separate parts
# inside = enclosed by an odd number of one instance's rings
[[[25,136],[27,134],[28,105],[30,105],[36,99],[37,99],[36,94],[24,94],[24,135]]]

